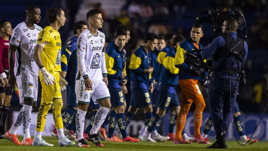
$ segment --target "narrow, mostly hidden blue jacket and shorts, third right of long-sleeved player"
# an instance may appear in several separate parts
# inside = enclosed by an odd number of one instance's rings
[[[152,64],[152,67],[154,68],[154,71],[152,73],[152,77],[155,79],[155,81],[156,81],[156,79],[159,78],[159,75],[160,75],[160,74],[158,74],[158,69],[159,69],[160,64],[157,61],[157,58],[158,58],[158,54],[159,53],[160,53],[160,51],[157,50],[156,48],[155,48],[154,51],[151,51],[150,52],[151,64]],[[154,91],[153,91],[153,93],[150,93],[150,95],[151,95],[150,98],[151,98],[152,105],[157,104],[156,103],[156,101],[157,101],[157,95],[158,95],[157,94],[157,87],[158,87],[158,83],[155,83],[155,85],[154,85]],[[155,112],[156,112],[156,107],[153,110],[155,110]]]

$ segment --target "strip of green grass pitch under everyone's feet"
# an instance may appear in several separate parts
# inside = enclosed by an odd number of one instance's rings
[[[18,136],[19,140],[23,139],[23,136]],[[33,137],[32,137],[33,138]],[[54,147],[40,147],[40,146],[18,146],[12,144],[9,140],[4,139],[0,140],[0,150],[1,151],[74,151],[74,150],[108,150],[108,151],[138,151],[138,150],[161,150],[161,151],[203,151],[203,150],[226,150],[226,149],[207,149],[209,145],[206,144],[173,144],[172,141],[161,142],[161,143],[150,143],[150,142],[138,142],[138,143],[129,143],[129,142],[105,142],[102,141],[104,147],[96,147],[93,143],[88,142],[91,146],[90,148],[85,147],[59,147],[58,140],[53,137],[43,137],[46,142],[54,144]],[[214,141],[211,141],[214,142]],[[228,149],[230,151],[262,151],[268,150],[268,142],[259,141],[252,145],[240,146],[236,141],[227,141]]]

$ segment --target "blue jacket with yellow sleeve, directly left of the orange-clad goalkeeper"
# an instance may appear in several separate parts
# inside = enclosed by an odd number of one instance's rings
[[[174,60],[177,49],[172,47],[171,50],[166,54],[161,69],[159,82],[176,87],[178,85],[178,73],[179,69],[175,67]]]

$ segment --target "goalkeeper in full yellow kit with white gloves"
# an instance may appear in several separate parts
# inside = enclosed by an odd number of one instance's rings
[[[65,90],[65,84],[68,84],[60,76],[61,40],[58,30],[66,21],[64,11],[58,6],[52,7],[47,11],[47,20],[50,26],[47,26],[39,33],[33,54],[33,58],[40,68],[39,77],[42,85],[42,98],[32,145],[54,146],[46,143],[41,138],[45,127],[46,115],[53,103],[53,119],[59,136],[59,145],[60,147],[71,146],[75,143],[63,134],[63,121],[60,112],[63,106],[61,90]]]

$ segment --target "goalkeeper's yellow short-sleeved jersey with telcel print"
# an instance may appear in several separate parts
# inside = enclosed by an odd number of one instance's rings
[[[44,28],[38,35],[37,43],[45,44],[40,53],[43,66],[49,73],[61,72],[61,40],[60,33],[50,26]],[[39,72],[40,81],[43,80],[42,73]]]

